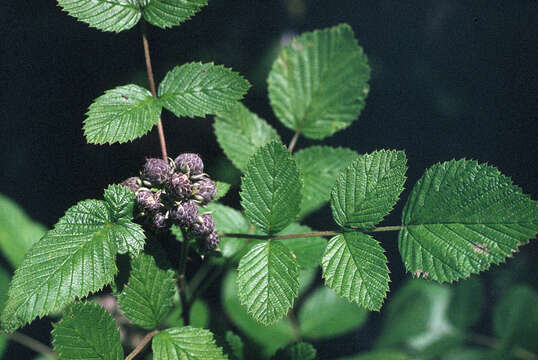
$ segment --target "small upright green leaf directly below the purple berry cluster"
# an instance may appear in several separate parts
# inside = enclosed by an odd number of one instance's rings
[[[131,261],[129,282],[118,303],[134,324],[153,330],[172,308],[175,284],[173,271],[160,269],[152,256],[142,253]]]

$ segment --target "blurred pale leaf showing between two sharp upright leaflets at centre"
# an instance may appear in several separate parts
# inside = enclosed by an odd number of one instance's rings
[[[304,178],[304,196],[299,213],[299,217],[304,217],[329,201],[336,176],[357,158],[357,153],[345,148],[312,146],[297,151],[294,156]]]

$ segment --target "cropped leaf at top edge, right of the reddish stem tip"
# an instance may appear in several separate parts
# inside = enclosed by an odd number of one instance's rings
[[[166,29],[190,19],[207,5],[207,0],[145,0],[144,19]]]

